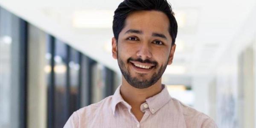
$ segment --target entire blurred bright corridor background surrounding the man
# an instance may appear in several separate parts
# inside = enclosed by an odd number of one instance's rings
[[[179,26],[163,75],[170,95],[219,128],[256,128],[256,1],[168,1]],[[114,93],[120,2],[0,0],[0,128],[62,128]]]

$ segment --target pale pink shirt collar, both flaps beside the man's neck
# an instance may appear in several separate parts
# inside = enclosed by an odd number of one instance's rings
[[[164,105],[166,105],[171,99],[171,96],[169,95],[166,85],[162,84],[162,87],[163,89],[161,90],[160,93],[146,99],[146,103],[148,104],[148,108],[152,114],[154,114]],[[122,98],[120,94],[120,88],[121,85],[117,87],[115,93],[112,96],[111,108],[113,114],[115,114],[116,105],[120,102],[122,102],[128,108],[128,110],[131,109],[131,106]]]

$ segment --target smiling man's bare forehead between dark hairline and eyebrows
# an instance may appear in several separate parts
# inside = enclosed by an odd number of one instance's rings
[[[135,11],[125,20],[125,27],[128,29],[139,29],[145,33],[161,32],[169,35],[169,19],[166,14],[159,11]],[[125,31],[126,32],[126,31]]]

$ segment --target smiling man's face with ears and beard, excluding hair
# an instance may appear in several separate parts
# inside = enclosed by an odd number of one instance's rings
[[[150,87],[172,64],[175,45],[168,29],[169,19],[163,12],[137,11],[126,18],[118,41],[112,39],[113,58],[133,87]]]

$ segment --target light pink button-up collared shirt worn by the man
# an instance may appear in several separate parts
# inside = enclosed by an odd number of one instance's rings
[[[138,122],[120,87],[113,96],[74,112],[64,128],[217,128],[209,116],[172,98],[166,86],[140,105],[144,115]]]

